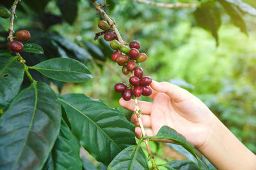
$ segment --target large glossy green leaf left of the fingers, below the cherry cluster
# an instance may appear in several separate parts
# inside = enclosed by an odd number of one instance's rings
[[[119,110],[84,94],[65,94],[60,101],[79,143],[103,164],[136,144],[134,125]]]

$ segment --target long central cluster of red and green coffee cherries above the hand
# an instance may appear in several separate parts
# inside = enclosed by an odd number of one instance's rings
[[[120,45],[115,32],[110,28],[108,22],[100,20],[98,23],[100,29],[103,29],[105,32],[104,39],[106,41],[111,41],[110,46],[115,52],[111,55],[111,60],[117,62],[119,66],[122,67],[122,72],[127,75],[131,73],[134,76],[131,76],[129,79],[129,85],[125,83],[117,83],[115,85],[115,91],[122,93],[122,97],[129,101],[132,96],[140,97],[150,96],[152,90],[148,85],[152,82],[150,76],[143,76],[143,69],[138,64],[139,62],[144,62],[147,60],[147,55],[145,53],[140,53],[140,42],[131,41],[127,45]]]

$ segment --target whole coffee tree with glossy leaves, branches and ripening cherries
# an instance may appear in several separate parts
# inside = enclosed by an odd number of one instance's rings
[[[210,31],[217,45],[220,6],[227,11],[234,25],[246,34],[243,13],[256,15],[256,10],[243,1],[218,0],[195,4],[137,2],[164,8],[196,8],[193,13],[196,24]],[[152,78],[143,75],[140,65],[147,62],[147,54],[140,51],[139,41],[125,42],[115,22],[104,11],[113,8],[116,1],[90,1],[95,13],[101,17],[98,26],[102,32],[95,34],[95,40],[104,36],[110,43],[108,46],[106,41],[99,39],[97,41],[101,45],[98,47],[82,42],[86,48],[81,42],[75,43],[56,32],[17,30],[13,27],[19,5],[19,10],[30,8],[43,14],[47,18],[45,28],[63,20],[69,24],[74,22],[78,1],[56,0],[62,18],[44,14],[47,3],[47,0],[1,3],[0,17],[10,18],[10,27],[6,28],[8,35],[1,34],[6,35],[8,43],[4,40],[0,50],[0,169],[82,169],[80,147],[108,169],[209,169],[202,155],[174,129],[163,126],[156,136],[145,133],[138,97],[152,93],[148,87]],[[122,66],[123,74],[130,76],[129,82],[116,83],[113,88],[127,101],[134,97],[134,114],[143,134],[138,141],[134,137],[134,125],[118,108],[109,108],[103,101],[84,94],[56,94],[49,85],[51,81],[61,90],[63,82],[79,83],[92,78],[86,64],[93,58],[100,59],[101,50]],[[39,54],[44,54],[44,57],[36,58]],[[156,164],[148,143],[154,139],[172,140],[183,146],[196,161],[172,160]],[[141,143],[147,146],[147,154]]]

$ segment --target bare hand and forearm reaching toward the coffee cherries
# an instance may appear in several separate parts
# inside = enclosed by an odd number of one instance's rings
[[[256,156],[200,99],[168,82],[152,81],[150,87],[152,94],[148,97],[154,101],[139,101],[143,126],[151,128],[145,129],[148,136],[156,135],[163,125],[168,125],[185,136],[216,168],[256,169]],[[119,103],[127,110],[134,110],[134,100],[121,98]],[[132,115],[131,122],[139,126],[136,115]],[[135,136],[141,138],[140,127],[136,127]]]

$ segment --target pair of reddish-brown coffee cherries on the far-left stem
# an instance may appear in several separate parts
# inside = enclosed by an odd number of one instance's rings
[[[15,37],[19,41],[10,42],[9,48],[13,52],[22,52],[24,46],[22,43],[20,43],[20,41],[28,41],[30,39],[31,35],[30,35],[29,31],[20,30],[20,31],[16,32]]]

